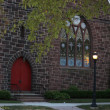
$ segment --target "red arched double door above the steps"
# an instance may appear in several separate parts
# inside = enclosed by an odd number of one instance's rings
[[[18,85],[21,91],[31,91],[31,67],[27,60],[23,61],[23,57],[18,58],[12,66],[11,84]]]

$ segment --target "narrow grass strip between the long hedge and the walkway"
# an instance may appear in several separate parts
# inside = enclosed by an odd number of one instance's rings
[[[50,100],[51,103],[91,103],[92,99]],[[110,99],[96,99],[96,102],[110,102]]]

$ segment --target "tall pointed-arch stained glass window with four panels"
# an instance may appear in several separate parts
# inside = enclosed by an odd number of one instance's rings
[[[61,30],[60,65],[90,67],[90,37],[86,23],[79,16],[71,19],[67,26],[70,31]]]

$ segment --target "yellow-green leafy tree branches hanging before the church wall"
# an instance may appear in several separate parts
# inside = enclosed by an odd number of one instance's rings
[[[69,32],[65,25],[67,20],[75,15],[92,19],[110,14],[107,0],[22,0],[21,4],[25,9],[31,9],[27,20],[18,24],[23,23],[30,31],[28,40],[32,42],[32,52],[37,52],[37,62],[53,47],[52,41],[59,37],[62,28]]]

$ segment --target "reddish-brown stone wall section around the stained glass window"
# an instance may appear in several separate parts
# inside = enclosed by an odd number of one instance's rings
[[[102,16],[88,22],[91,37],[91,67],[71,68],[61,67],[60,64],[60,41],[57,40],[51,51],[51,76],[50,89],[65,89],[75,85],[82,90],[92,90],[93,87],[93,60],[92,53],[98,53],[97,60],[97,90],[110,87],[110,16]],[[57,44],[57,45],[56,45]],[[58,60],[58,62],[56,62]]]

